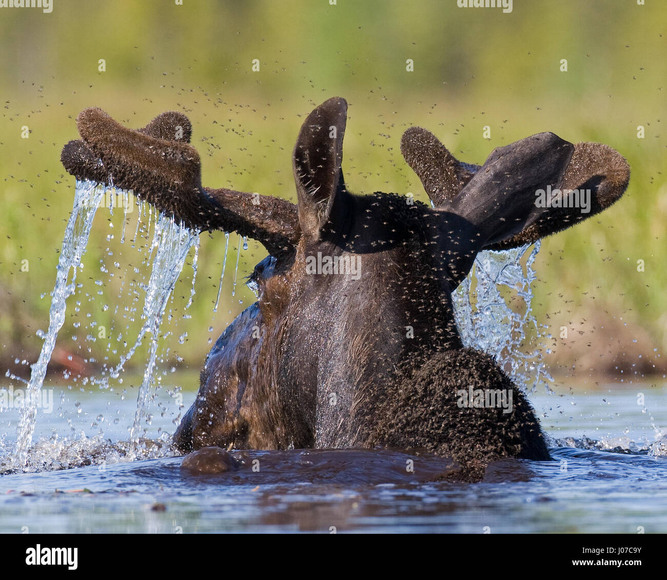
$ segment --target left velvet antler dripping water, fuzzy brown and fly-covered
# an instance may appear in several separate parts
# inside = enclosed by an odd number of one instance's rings
[[[201,186],[201,161],[188,144],[191,123],[185,115],[162,113],[143,129],[133,130],[91,108],[81,111],[77,127],[83,141],[69,141],[61,161],[78,179],[133,190],[186,226],[249,236],[273,256],[293,251],[300,236],[294,204]]]

